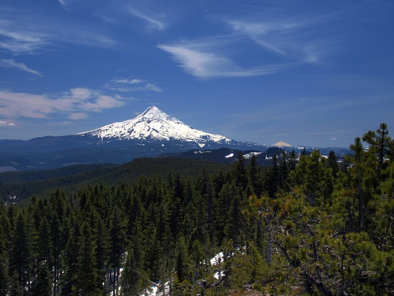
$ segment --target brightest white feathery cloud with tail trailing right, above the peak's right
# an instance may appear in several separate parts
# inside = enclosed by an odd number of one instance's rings
[[[223,40],[223,42],[228,42]],[[172,55],[186,73],[201,78],[212,77],[249,77],[273,74],[294,66],[292,63],[256,66],[242,68],[229,57],[223,55],[222,50],[216,48],[218,43],[210,39],[207,42],[192,41],[174,44],[159,44],[158,47]]]

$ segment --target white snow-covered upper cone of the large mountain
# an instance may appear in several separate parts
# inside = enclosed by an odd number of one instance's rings
[[[88,135],[101,140],[180,140],[197,142],[201,144],[200,147],[211,141],[222,144],[231,142],[231,139],[224,136],[193,129],[155,106],[149,107],[133,119],[112,123],[77,135]]]

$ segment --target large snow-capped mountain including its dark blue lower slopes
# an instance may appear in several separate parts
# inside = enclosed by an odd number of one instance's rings
[[[133,119],[67,136],[46,136],[28,141],[0,140],[0,172],[60,168],[75,164],[125,163],[138,157],[196,148],[265,150],[191,128],[151,106]]]

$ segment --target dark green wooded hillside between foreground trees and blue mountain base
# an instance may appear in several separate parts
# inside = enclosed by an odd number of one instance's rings
[[[123,165],[77,165],[38,172],[5,172],[0,174],[0,196],[3,200],[10,196],[23,200],[32,195],[48,195],[56,188],[75,192],[88,184],[112,186],[119,182],[132,183],[141,175],[165,180],[169,174],[189,177],[202,171],[212,174],[228,169],[226,164],[203,160],[136,158]]]

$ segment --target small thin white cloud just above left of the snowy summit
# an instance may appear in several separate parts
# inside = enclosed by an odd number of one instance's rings
[[[131,91],[156,91],[163,92],[163,90],[144,79],[128,79],[128,78],[116,78],[109,81],[105,86],[111,91],[131,92]]]

